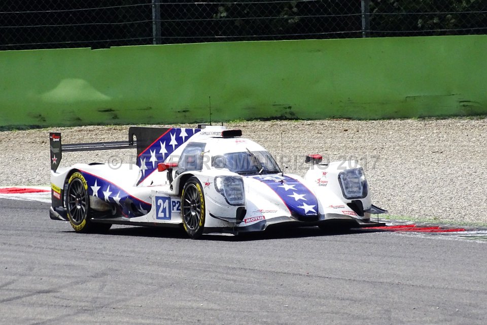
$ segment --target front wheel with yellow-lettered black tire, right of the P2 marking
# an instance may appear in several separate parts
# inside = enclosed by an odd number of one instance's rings
[[[192,239],[199,238],[204,229],[205,205],[203,187],[196,177],[191,177],[184,185],[181,213],[186,233]]]

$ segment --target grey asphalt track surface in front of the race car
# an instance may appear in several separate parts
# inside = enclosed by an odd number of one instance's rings
[[[75,234],[0,199],[1,324],[485,324],[487,243],[318,228]]]

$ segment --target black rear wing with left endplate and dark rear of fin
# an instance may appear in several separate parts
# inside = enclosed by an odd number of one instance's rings
[[[72,144],[62,144],[61,133],[50,132],[49,146],[51,151],[51,170],[54,172],[57,170],[59,164],[61,163],[63,152],[137,148],[137,155],[140,155],[147,147],[149,147],[158,138],[166,134],[170,129],[171,128],[163,127],[131,126],[128,129],[128,141],[106,141]],[[139,161],[137,159],[137,165],[138,164]]]

